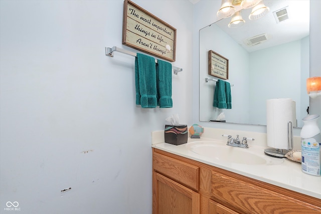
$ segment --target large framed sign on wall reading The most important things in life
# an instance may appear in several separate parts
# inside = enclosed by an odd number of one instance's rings
[[[176,29],[131,1],[125,0],[122,44],[174,62]]]

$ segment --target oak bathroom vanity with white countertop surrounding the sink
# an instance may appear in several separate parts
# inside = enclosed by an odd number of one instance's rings
[[[222,162],[197,154],[189,147],[195,140],[189,140],[175,146],[158,139],[152,145],[154,214],[321,213],[321,177],[302,173],[299,163]]]

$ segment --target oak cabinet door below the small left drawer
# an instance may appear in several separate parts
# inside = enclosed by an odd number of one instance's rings
[[[199,193],[153,172],[153,214],[199,214]]]

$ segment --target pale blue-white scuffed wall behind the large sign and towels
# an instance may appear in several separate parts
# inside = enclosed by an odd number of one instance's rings
[[[173,108],[136,106],[134,58],[105,56],[135,52],[122,0],[0,1],[1,212],[151,213],[150,132],[192,123],[193,5],[134,2],[177,29]]]

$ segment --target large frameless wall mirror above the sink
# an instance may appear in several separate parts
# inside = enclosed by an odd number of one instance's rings
[[[231,17],[200,30],[200,121],[266,125],[266,100],[295,101],[296,127],[307,114],[309,98],[309,1],[264,0],[268,14],[249,20],[251,9],[241,10],[245,24],[228,28]],[[278,12],[288,19],[279,21]],[[215,12],[216,13],[216,12]],[[254,38],[254,39],[253,39]],[[258,41],[257,41],[258,40]],[[214,51],[229,61],[232,108],[213,107],[219,79],[209,75],[208,53]],[[224,80],[224,79],[222,79]]]

